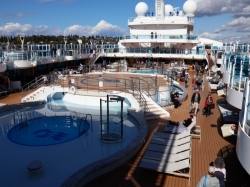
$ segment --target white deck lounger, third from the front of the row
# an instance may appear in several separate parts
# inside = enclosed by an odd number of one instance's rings
[[[190,142],[175,147],[167,145],[149,144],[147,150],[168,154],[178,154],[180,152],[190,150]]]

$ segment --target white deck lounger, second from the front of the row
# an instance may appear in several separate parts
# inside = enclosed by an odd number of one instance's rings
[[[179,154],[168,154],[168,153],[160,153],[155,151],[147,150],[143,155],[143,159],[151,159],[151,160],[160,160],[164,162],[177,162],[184,159],[190,158],[190,150],[181,152]]]

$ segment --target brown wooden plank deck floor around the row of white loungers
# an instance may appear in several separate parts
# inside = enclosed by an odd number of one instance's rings
[[[193,72],[190,72],[191,75]],[[182,83],[181,83],[182,84]],[[186,187],[188,179],[158,173],[147,169],[139,168],[140,160],[147,148],[147,145],[152,137],[153,132],[163,132],[165,124],[168,120],[183,121],[189,117],[188,106],[190,104],[191,81],[189,81],[188,92],[189,96],[183,104],[171,110],[171,117],[157,120],[149,120],[149,131],[145,145],[140,152],[129,160],[126,164],[117,169],[102,175],[93,181],[89,182],[86,187]],[[200,91],[201,103],[199,109],[202,110],[205,98],[209,93],[208,85],[205,85],[205,91]],[[216,93],[212,93],[215,103],[221,100]],[[9,97],[0,100],[0,103],[14,104],[20,101],[20,94],[12,94]],[[200,178],[207,173],[208,165],[214,161],[217,155],[224,158],[227,170],[227,178],[231,180],[230,187],[242,187],[250,182],[250,176],[241,166],[235,152],[236,138],[231,136],[223,138],[220,131],[220,113],[217,108],[212,109],[213,114],[205,117],[202,112],[197,114],[197,124],[202,128],[202,140],[192,139],[192,158],[191,158],[191,180],[190,186],[195,187]],[[246,186],[244,186],[246,187]]]

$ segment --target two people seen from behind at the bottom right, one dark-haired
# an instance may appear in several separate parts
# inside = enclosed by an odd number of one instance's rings
[[[217,157],[208,167],[208,175],[204,175],[196,187],[225,187],[226,169],[224,159]]]

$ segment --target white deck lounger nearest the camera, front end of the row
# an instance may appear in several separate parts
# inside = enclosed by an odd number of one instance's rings
[[[151,169],[158,172],[168,173],[172,175],[187,177],[190,179],[190,172],[183,173],[182,170],[189,169],[189,159],[185,159],[179,162],[168,163],[164,161],[157,161],[151,159],[142,159],[139,165],[141,168]]]

